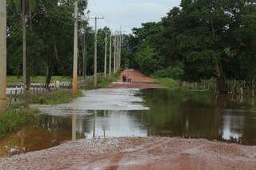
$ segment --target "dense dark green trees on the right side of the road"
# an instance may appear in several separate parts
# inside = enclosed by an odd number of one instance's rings
[[[160,22],[143,23],[124,40],[126,65],[186,81],[256,76],[256,1],[182,0]]]

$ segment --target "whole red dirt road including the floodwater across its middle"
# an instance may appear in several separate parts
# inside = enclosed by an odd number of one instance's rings
[[[133,83],[40,106],[36,125],[0,140],[0,156],[26,152],[0,158],[0,169],[256,169],[253,101],[156,89],[125,73]]]

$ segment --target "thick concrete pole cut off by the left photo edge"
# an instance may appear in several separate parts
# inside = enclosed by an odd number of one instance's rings
[[[0,114],[6,103],[6,0],[0,0]]]

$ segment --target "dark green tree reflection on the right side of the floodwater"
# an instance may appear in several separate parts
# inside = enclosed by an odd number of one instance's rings
[[[150,111],[134,114],[134,118],[142,122],[149,136],[186,136],[233,141],[242,135],[243,141],[250,140],[256,144],[256,122],[251,122],[256,120],[248,116],[251,99],[243,98],[240,103],[241,98],[227,95],[214,98],[203,94],[189,94],[184,97],[186,93],[173,94],[176,92],[166,89],[144,90],[142,93],[147,105],[150,106]],[[236,117],[235,113],[230,113],[230,121],[227,121],[226,109],[232,112],[241,107],[247,108],[240,110],[239,114],[243,117]],[[252,130],[254,135],[250,136],[248,133]],[[224,132],[228,137],[223,136]]]

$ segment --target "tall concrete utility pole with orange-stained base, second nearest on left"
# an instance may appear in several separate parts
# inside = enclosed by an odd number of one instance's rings
[[[78,1],[74,2],[73,95],[78,93]]]

